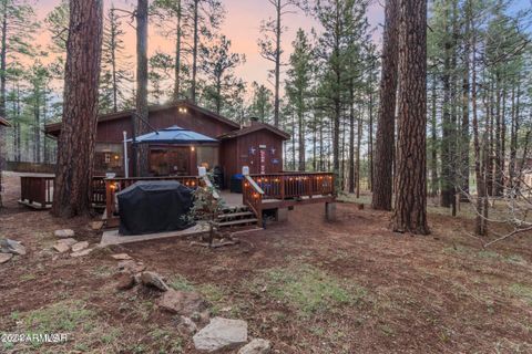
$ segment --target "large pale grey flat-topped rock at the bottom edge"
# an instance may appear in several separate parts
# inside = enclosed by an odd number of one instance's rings
[[[247,322],[214,317],[193,340],[196,350],[208,352],[241,345],[247,342]]]

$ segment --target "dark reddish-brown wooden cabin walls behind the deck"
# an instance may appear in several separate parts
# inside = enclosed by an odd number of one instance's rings
[[[96,175],[125,175],[124,132],[127,138],[132,137],[133,114],[134,111],[123,111],[98,118],[94,156]],[[219,167],[227,186],[231,177],[239,174],[243,166],[249,166],[252,174],[283,170],[283,142],[289,135],[269,124],[252,121],[249,126],[241,126],[188,101],[151,106],[149,124],[157,131],[176,125],[216,140],[213,144],[150,144],[150,177],[196,176],[198,166],[207,169]],[[146,129],[152,132],[147,126]],[[47,125],[45,133],[59,137],[61,123]],[[131,143],[127,146],[131,160]],[[129,165],[131,176],[132,168]]]

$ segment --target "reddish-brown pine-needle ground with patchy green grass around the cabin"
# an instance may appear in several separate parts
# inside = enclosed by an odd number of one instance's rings
[[[69,341],[0,343],[0,352],[196,353],[157,309],[160,293],[115,290],[115,252],[200,292],[213,314],[247,321],[274,353],[532,352],[531,235],[484,250],[468,235],[470,218],[434,207],[432,233],[411,237],[389,231],[388,212],[339,204],[329,223],[315,205],[232,248],[173,239],[57,257],[54,230],[74,229],[91,243],[101,232],[86,219],[17,206],[18,178],[4,183],[0,238],[22,241],[28,253],[0,264],[0,332],[66,332]]]

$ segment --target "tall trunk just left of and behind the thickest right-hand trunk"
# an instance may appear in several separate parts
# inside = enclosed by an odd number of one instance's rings
[[[399,0],[387,1],[382,75],[380,80],[380,114],[377,123],[374,195],[371,200],[372,208],[377,210],[391,210],[397,100],[398,17]]]

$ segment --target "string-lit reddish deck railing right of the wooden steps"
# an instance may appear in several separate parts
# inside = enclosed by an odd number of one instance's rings
[[[332,173],[280,173],[245,176],[243,202],[262,219],[263,201],[334,196]]]

